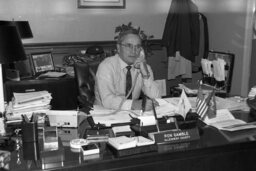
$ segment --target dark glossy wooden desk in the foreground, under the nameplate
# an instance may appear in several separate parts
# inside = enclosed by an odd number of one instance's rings
[[[248,116],[248,113],[240,113]],[[236,113],[239,117],[239,113]],[[241,118],[241,116],[240,116]],[[88,123],[83,122],[81,127],[73,129],[79,136]],[[65,129],[67,131],[67,129]],[[80,153],[71,152],[70,147],[64,147],[64,161],[58,167],[49,170],[171,170],[171,171],[221,171],[221,170],[256,170],[256,141],[241,140],[236,143],[229,143],[217,129],[204,127],[200,131],[200,140],[181,144],[159,145],[158,151],[139,155],[117,158],[106,148],[97,160],[83,160]],[[65,137],[66,138],[66,137]],[[72,137],[73,138],[73,137]],[[22,159],[17,165],[17,152],[11,154],[10,170],[41,170],[32,161],[31,168],[27,168],[27,161]],[[52,164],[54,166],[54,164]],[[57,166],[57,164],[55,164]]]

